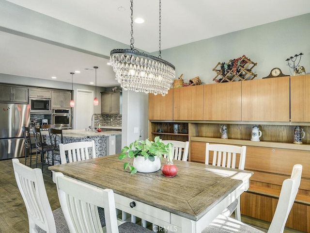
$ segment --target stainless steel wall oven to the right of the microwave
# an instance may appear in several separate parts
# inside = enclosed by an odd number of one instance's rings
[[[52,124],[56,129],[72,129],[71,109],[53,109]]]

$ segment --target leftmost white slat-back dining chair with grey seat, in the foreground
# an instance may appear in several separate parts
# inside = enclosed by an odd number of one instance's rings
[[[30,233],[69,233],[62,209],[51,210],[42,170],[12,159],[16,183],[26,205]]]

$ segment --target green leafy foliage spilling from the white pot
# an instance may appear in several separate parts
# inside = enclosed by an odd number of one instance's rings
[[[150,141],[149,139],[145,140],[136,140],[133,143],[130,143],[129,147],[125,146],[122,149],[122,153],[118,156],[119,159],[123,160],[127,156],[130,159],[130,162],[124,163],[124,170],[126,170],[127,167],[129,167],[130,174],[137,173],[137,169],[132,166],[132,159],[134,159],[137,156],[143,156],[144,159],[149,159],[150,161],[154,162],[156,155],[159,156],[160,159],[163,158],[163,154],[169,154],[169,152],[172,154],[171,143],[168,143],[167,145],[160,141],[159,136],[154,138],[154,142]]]

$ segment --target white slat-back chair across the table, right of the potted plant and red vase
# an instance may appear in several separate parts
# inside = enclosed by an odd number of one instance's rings
[[[236,168],[237,154],[239,154],[238,169],[244,170],[246,163],[246,146],[233,146],[226,144],[209,144],[205,146],[205,164],[209,164],[210,151],[213,151],[212,165],[229,168]],[[235,213],[235,218],[241,221],[240,196],[233,201],[223,212],[224,216],[231,216]]]

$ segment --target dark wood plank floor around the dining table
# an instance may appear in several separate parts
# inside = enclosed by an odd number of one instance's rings
[[[19,161],[25,164],[25,158],[20,158]],[[29,166],[29,159],[27,159]],[[35,164],[32,164],[32,168]],[[43,178],[47,190],[48,200],[52,210],[60,207],[58,200],[56,184],[53,183],[51,172],[44,167]],[[257,226],[263,232],[267,232],[269,224],[263,221],[257,221],[254,218],[242,216],[242,221],[248,222]],[[258,227],[259,226],[259,227]],[[0,161],[0,233],[28,233],[28,216],[24,201],[20,195],[16,184],[12,161]],[[297,233],[289,229],[284,230],[284,233]]]

